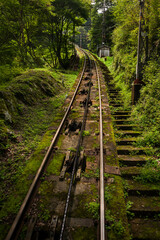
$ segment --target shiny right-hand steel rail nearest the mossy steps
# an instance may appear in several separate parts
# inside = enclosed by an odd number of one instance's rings
[[[98,78],[98,88],[99,88],[99,129],[100,129],[100,239],[105,240],[105,207],[104,207],[104,158],[103,158],[103,119],[102,119],[102,99],[101,99],[101,86],[100,78],[98,73],[97,64],[96,73]]]

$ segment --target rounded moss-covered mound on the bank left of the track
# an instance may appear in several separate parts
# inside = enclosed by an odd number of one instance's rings
[[[33,105],[42,98],[53,97],[61,89],[51,73],[29,70],[14,78],[10,86],[0,89],[0,117],[12,123],[17,114],[23,113],[23,105]]]

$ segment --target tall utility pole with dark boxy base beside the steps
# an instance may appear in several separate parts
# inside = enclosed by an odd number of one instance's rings
[[[138,48],[137,48],[137,66],[136,66],[136,80],[132,84],[132,105],[138,101],[140,97],[140,89],[143,85],[141,77],[142,71],[142,63],[141,63],[141,54],[142,54],[142,20],[143,20],[143,8],[144,8],[144,1],[139,0],[140,2],[140,13],[139,13],[139,31],[138,31]]]

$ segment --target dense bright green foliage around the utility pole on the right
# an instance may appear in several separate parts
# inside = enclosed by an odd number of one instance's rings
[[[116,27],[112,34],[113,72],[126,104],[136,79],[140,1],[114,0]],[[145,0],[141,19],[141,72],[144,82],[141,95],[133,107],[132,117],[144,130],[142,144],[159,146],[160,116],[160,1]],[[126,94],[126,90],[130,94]]]

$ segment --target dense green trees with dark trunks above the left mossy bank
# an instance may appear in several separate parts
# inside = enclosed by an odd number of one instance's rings
[[[75,26],[87,18],[85,0],[2,0],[0,65],[67,68]],[[58,63],[57,63],[58,62]]]

